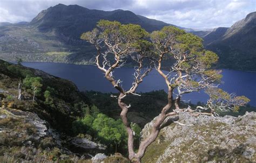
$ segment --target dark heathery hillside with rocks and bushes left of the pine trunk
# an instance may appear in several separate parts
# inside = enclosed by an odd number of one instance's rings
[[[41,79],[35,101],[32,87],[25,82],[28,79]],[[17,99],[19,81],[21,100]],[[90,114],[96,121],[104,117],[118,132],[125,133],[120,121],[100,114],[72,82],[0,60],[0,162],[91,162],[99,152],[113,153],[112,139],[99,137],[100,130],[81,121],[86,115],[92,118]],[[120,125],[119,129],[114,124]],[[86,133],[89,127],[90,134]],[[117,148],[122,153],[125,149],[124,145]],[[120,154],[105,159],[127,162]]]

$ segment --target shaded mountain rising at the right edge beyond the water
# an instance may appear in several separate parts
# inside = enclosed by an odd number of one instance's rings
[[[219,55],[219,67],[256,71],[256,12],[219,27],[203,37],[207,49]]]

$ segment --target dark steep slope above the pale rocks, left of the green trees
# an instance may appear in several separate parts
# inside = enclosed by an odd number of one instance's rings
[[[41,77],[42,87],[36,96],[37,102],[31,101],[32,92],[22,87],[24,100],[17,100],[17,86],[19,80],[26,76]],[[70,132],[70,125],[76,116],[82,115],[82,110],[75,107],[76,103],[88,103],[75,84],[59,77],[51,76],[41,70],[14,65],[0,60],[0,91],[1,100],[7,99],[10,108],[35,112],[40,118],[47,120],[52,127],[62,132]],[[49,102],[46,102],[45,91],[50,93]],[[9,100],[9,101],[8,101]],[[1,101],[0,101],[1,103]]]

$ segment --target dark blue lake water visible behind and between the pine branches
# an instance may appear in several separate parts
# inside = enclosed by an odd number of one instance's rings
[[[95,90],[103,93],[116,92],[112,85],[104,78],[104,75],[95,66],[73,65],[66,63],[49,62],[23,62],[24,66],[43,70],[46,73],[62,77],[74,82],[79,90]],[[123,87],[129,89],[133,80],[133,68],[119,68],[115,70],[116,79],[123,81]],[[256,73],[242,72],[238,70],[223,69],[223,79],[220,88],[235,93],[239,96],[244,95],[250,98],[249,104],[256,106]],[[156,70],[144,78],[143,83],[138,87],[138,92],[166,89],[166,84]],[[198,101],[206,102],[208,96],[203,91],[191,93],[183,96],[183,100],[190,100],[192,103]]]

